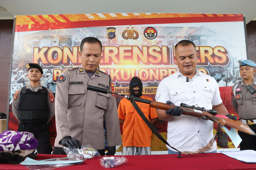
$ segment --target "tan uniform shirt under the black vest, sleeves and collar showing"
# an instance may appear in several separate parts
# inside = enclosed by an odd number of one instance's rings
[[[28,86],[26,86],[26,89],[30,89],[32,92],[36,92],[38,89],[42,89],[42,85],[39,84],[37,86],[37,88],[35,90],[33,90],[33,88],[30,88],[30,84],[28,84]],[[49,108],[49,118],[47,120],[47,123],[50,122],[50,120],[52,119],[52,117],[54,117],[54,112],[55,112],[55,108],[54,108],[54,96],[52,94],[52,91],[48,88],[46,88],[47,92],[48,92],[48,97],[47,97],[47,104],[48,104],[48,108]],[[19,88],[15,93],[14,93],[14,98],[12,99],[12,113],[13,115],[16,117],[17,120],[17,109],[20,103],[20,91],[21,88]]]

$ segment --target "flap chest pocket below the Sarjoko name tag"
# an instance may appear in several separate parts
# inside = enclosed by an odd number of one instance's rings
[[[70,86],[68,89],[68,106],[80,106],[84,94],[84,86]]]

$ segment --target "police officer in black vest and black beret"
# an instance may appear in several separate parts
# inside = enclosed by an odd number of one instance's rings
[[[54,116],[54,95],[50,89],[40,84],[42,68],[36,63],[29,63],[26,66],[30,83],[14,93],[12,112],[20,121],[18,131],[34,133],[38,140],[38,153],[51,154],[48,123]]]

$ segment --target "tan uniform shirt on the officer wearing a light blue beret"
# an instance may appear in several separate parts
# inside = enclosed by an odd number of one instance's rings
[[[253,78],[252,86],[256,90],[256,78]],[[233,107],[241,119],[256,119],[256,92],[251,94],[246,88],[244,80],[236,83],[231,92]]]

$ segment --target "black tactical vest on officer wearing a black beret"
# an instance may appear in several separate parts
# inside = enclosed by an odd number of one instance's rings
[[[20,103],[17,116],[22,122],[45,122],[49,117],[47,104],[48,91],[45,87],[36,92],[23,87],[20,91]]]

